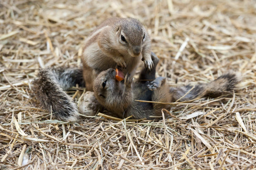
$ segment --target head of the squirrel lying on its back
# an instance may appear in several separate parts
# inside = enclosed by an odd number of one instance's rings
[[[116,70],[107,69],[99,73],[96,79],[93,82],[93,91],[95,97],[99,101],[105,101],[108,95],[111,95],[111,92],[116,91]]]

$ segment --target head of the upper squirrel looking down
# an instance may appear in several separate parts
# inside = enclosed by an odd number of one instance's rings
[[[128,52],[132,57],[140,56],[144,48],[150,45],[150,37],[139,20],[125,18],[116,26],[117,43],[120,52]]]

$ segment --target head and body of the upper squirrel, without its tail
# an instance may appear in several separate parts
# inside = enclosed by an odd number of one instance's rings
[[[145,38],[143,38],[145,34]],[[124,36],[125,41],[122,41]],[[87,90],[99,72],[117,66],[134,75],[140,60],[151,70],[151,40],[143,25],[134,18],[110,18],[99,25],[84,45],[83,76]]]

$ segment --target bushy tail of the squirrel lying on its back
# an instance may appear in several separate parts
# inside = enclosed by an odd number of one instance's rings
[[[231,93],[238,82],[239,78],[236,74],[228,73],[207,84],[197,84],[194,88],[191,85],[171,88],[170,92],[173,102],[189,101],[204,96],[218,97]]]

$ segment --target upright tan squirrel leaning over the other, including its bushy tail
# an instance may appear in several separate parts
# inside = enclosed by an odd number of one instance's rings
[[[82,69],[41,69],[33,82],[34,91],[54,118],[76,121],[77,106],[64,90],[79,84],[92,91],[96,76],[109,68],[119,67],[134,75],[140,60],[148,71],[153,69],[151,40],[142,23],[134,18],[110,18],[85,41]]]

